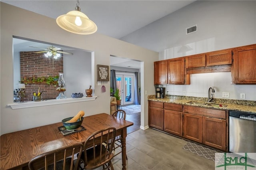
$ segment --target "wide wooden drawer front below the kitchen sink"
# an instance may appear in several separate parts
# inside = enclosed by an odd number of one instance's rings
[[[220,119],[226,119],[226,111],[207,109],[202,107],[183,106],[183,113],[190,113],[194,115],[202,115],[208,117],[216,117]]]

